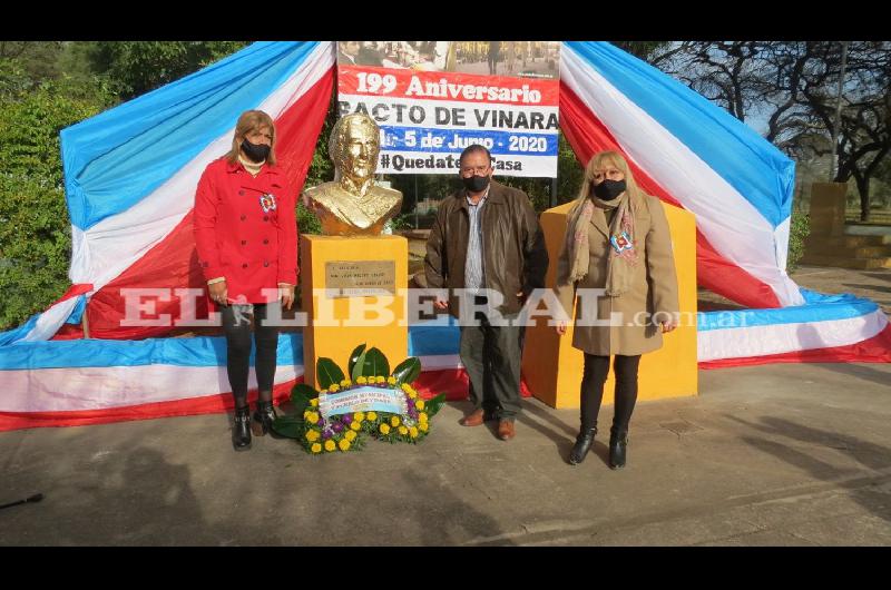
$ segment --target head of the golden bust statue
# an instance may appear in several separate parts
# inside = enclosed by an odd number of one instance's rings
[[[381,150],[380,127],[362,112],[347,115],[334,125],[327,153],[334,161],[334,180],[346,178],[361,186],[374,177]]]

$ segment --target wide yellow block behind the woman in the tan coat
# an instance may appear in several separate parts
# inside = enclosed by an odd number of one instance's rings
[[[550,264],[546,284],[554,287],[557,257],[566,232],[567,214],[572,203],[548,209],[541,214],[541,227],[548,247]],[[677,207],[665,205],[672,230],[675,266],[677,269],[681,303],[681,326],[664,334],[664,346],[640,357],[639,401],[696,395],[698,391],[696,365],[696,222],[695,216]],[[570,314],[571,315],[571,314]],[[578,407],[579,384],[584,367],[581,351],[572,347],[572,326],[558,336],[552,326],[540,321],[527,328],[522,374],[532,395],[551,407]],[[604,403],[614,399],[615,375],[610,366],[604,389]]]

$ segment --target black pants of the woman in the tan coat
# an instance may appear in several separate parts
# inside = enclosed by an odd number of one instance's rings
[[[634,404],[637,402],[637,367],[640,355],[623,356],[617,354],[613,363],[616,373],[616,405],[613,415],[613,430],[617,433],[628,432]],[[600,402],[604,400],[604,383],[609,373],[609,356],[585,354],[585,375],[581,377],[581,429],[597,426]]]

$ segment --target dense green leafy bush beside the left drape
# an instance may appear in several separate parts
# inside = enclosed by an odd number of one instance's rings
[[[2,60],[0,60],[2,61]],[[99,80],[32,85],[6,63],[0,88],[0,330],[42,311],[68,287],[70,220],[62,186],[59,131],[116,101]]]

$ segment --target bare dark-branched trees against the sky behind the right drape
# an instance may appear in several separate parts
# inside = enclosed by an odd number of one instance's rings
[[[765,138],[786,154],[822,156],[832,151],[840,49],[831,41],[684,41],[650,62],[740,120],[753,110],[766,115]],[[890,80],[891,42],[849,43],[834,180],[854,179],[862,220],[870,179],[891,153]]]

